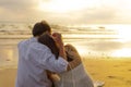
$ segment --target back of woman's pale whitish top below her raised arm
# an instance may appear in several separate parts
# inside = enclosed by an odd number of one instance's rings
[[[94,87],[93,80],[85,72],[83,64],[59,75],[57,87]]]

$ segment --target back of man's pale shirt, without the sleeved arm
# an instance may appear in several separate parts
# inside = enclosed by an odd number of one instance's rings
[[[35,65],[35,63],[33,63],[32,59],[28,57],[29,54],[28,52],[31,50],[33,42],[36,42],[35,38],[24,40],[19,44],[20,59],[19,59],[19,67],[17,67],[16,87],[50,87],[48,85],[51,85],[51,83],[50,80],[48,80],[46,75],[44,75],[46,74],[44,70]],[[46,85],[46,83],[44,83],[43,79],[46,79],[46,82],[50,84]]]

